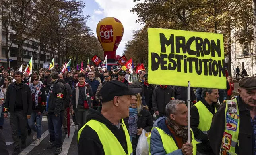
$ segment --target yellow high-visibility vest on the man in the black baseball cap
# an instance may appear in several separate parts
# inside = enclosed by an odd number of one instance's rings
[[[126,155],[123,147],[121,146],[120,142],[117,140],[116,136],[114,136],[114,134],[111,132],[111,130],[109,130],[109,128],[106,127],[105,124],[93,119],[87,122],[78,131],[78,143],[79,143],[81,132],[83,131],[83,128],[85,128],[86,125],[88,125],[89,127],[91,127],[91,129],[97,132],[99,136],[99,140],[101,141],[101,144],[103,146],[105,155]],[[122,128],[124,130],[124,134],[127,142],[127,150],[128,150],[127,155],[130,155],[132,153],[132,143],[130,140],[129,132],[124,124],[123,119],[122,119]]]

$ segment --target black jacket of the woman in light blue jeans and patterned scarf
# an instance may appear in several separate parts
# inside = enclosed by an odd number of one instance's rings
[[[41,113],[43,113],[46,106],[46,95],[45,95],[45,89],[43,85],[41,86],[41,89],[38,95],[37,107],[35,107],[35,95],[32,95],[32,102],[33,102],[32,110],[40,111]]]

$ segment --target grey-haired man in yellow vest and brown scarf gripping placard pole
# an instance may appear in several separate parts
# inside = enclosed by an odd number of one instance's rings
[[[188,141],[188,108],[182,100],[171,100],[165,107],[167,117],[154,123],[147,138],[151,155],[196,155],[196,140],[191,130]]]

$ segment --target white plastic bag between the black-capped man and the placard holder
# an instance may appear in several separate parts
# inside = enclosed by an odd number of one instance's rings
[[[147,143],[147,137],[145,133],[146,131],[143,129],[136,147],[136,155],[149,155],[149,145]]]

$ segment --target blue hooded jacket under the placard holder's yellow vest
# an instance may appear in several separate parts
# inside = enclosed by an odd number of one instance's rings
[[[165,121],[167,117],[160,117],[157,119],[153,125],[153,127],[158,127],[161,130],[163,130],[167,135],[172,136],[173,140],[176,142],[175,137],[171,133],[171,131],[168,129]],[[177,142],[176,142],[177,144]],[[161,136],[157,129],[153,128],[151,131],[151,138],[150,138],[150,153],[151,155],[183,155],[181,149],[177,149],[171,153],[166,153],[163,142],[161,139]]]

